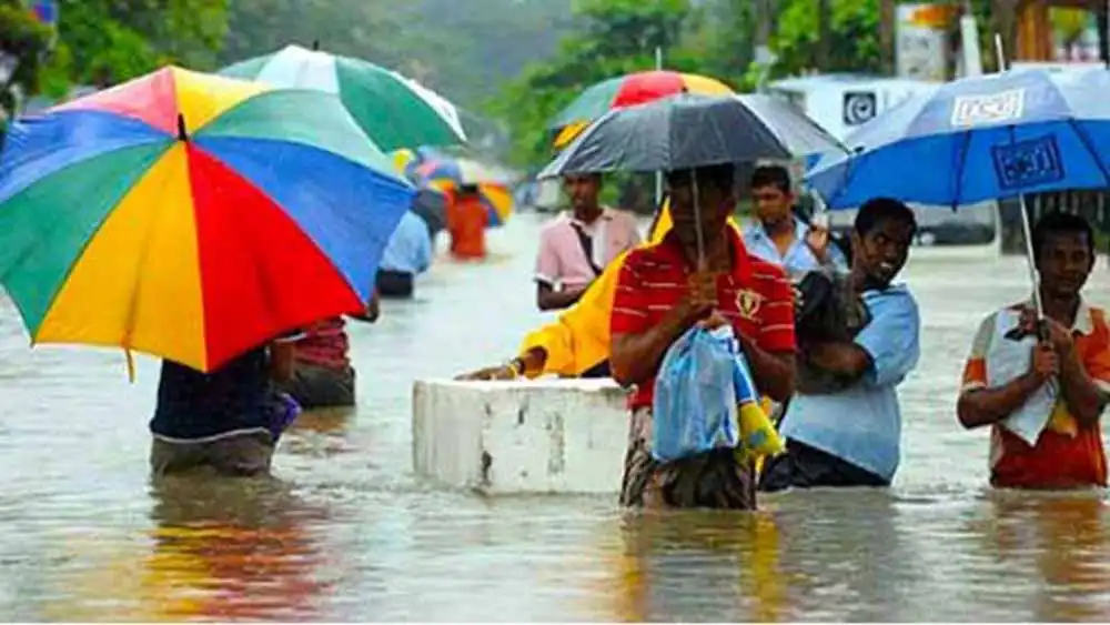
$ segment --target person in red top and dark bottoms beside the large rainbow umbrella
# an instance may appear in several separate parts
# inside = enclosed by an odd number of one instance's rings
[[[356,319],[373,323],[379,313],[375,291],[366,314]],[[342,316],[316,322],[295,343],[293,377],[282,384],[282,390],[305,410],[353,406],[355,372],[350,351]]]

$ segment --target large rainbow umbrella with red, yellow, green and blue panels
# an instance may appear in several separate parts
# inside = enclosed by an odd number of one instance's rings
[[[211,371],[363,310],[414,195],[334,95],[167,68],[13,125],[0,283],[32,343]]]

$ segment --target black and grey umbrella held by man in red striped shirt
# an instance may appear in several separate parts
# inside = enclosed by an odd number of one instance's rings
[[[847,152],[793,104],[767,95],[684,93],[609,111],[539,173],[675,171]]]

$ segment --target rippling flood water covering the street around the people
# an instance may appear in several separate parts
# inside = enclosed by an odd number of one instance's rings
[[[1110,619],[1102,493],[986,487],[987,434],[953,416],[979,319],[1023,261],[915,250],[924,356],[902,386],[886,491],[797,492],[756,514],[622,513],[613,497],[486,500],[412,473],[414,377],[511,355],[533,306],[537,215],[481,265],[442,262],[413,302],[353,323],[359,409],[309,414],[272,481],[152,490],[157,364],[29,351],[0,303],[0,614],[14,621]],[[1104,264],[1088,288],[1110,304]]]

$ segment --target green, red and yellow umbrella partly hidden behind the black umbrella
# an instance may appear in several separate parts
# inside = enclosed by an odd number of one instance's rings
[[[598,82],[582,92],[548,124],[558,130],[555,147],[563,148],[591,122],[613,109],[653,102],[676,93],[724,95],[733,93],[727,84],[696,73],[654,70],[629,73]]]

